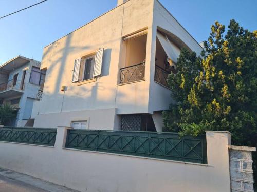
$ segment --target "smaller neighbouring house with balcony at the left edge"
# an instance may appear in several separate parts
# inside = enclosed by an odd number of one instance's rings
[[[16,120],[7,126],[23,127],[30,118],[33,102],[45,78],[40,64],[17,56],[0,66],[0,105],[9,103],[20,108]]]

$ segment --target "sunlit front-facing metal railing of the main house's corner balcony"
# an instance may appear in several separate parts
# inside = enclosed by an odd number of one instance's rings
[[[145,62],[120,69],[120,84],[144,79]]]

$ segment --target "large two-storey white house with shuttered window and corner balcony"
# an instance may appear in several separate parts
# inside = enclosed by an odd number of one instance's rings
[[[119,0],[44,48],[34,127],[162,131],[172,102],[166,79],[182,47],[202,50],[157,0]]]

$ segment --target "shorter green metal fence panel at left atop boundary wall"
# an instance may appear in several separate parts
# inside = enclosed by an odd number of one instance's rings
[[[57,129],[0,127],[0,141],[54,146]]]

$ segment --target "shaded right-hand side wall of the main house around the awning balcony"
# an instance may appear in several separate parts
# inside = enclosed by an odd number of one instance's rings
[[[202,48],[198,42],[177,22],[177,20],[159,3],[154,0],[153,25],[152,25],[152,53],[150,69],[150,90],[149,90],[149,113],[159,110],[168,110],[169,104],[174,102],[171,98],[171,91],[154,82],[155,53],[156,53],[156,32],[163,29],[174,41],[187,45],[189,49],[200,54]]]

